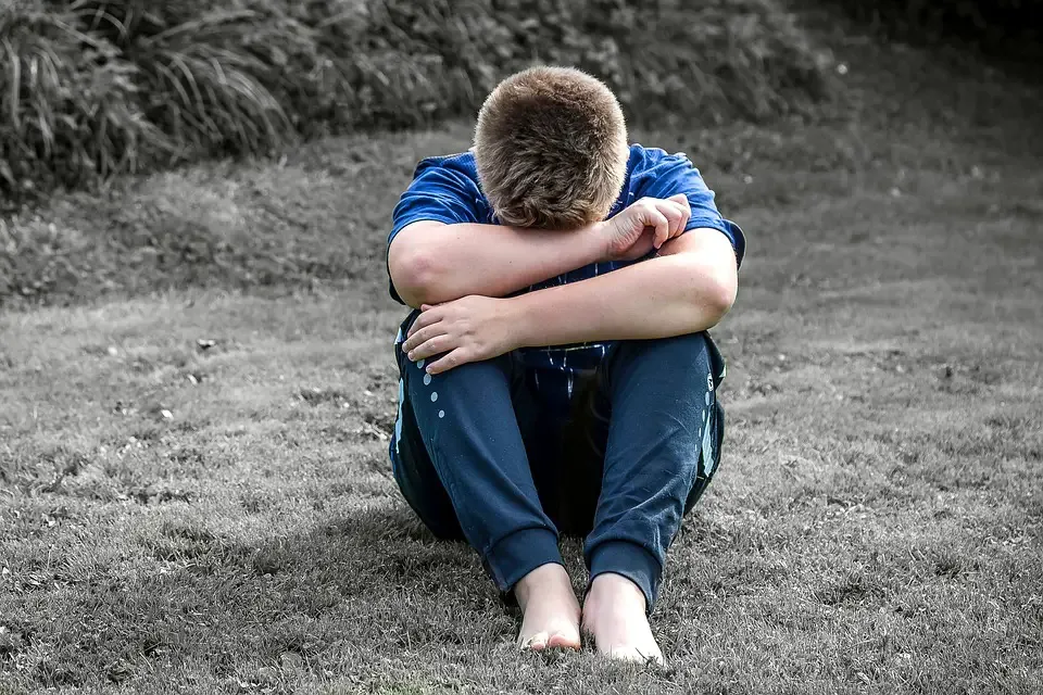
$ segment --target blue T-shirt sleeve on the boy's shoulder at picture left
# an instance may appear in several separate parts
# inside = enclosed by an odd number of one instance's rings
[[[430,157],[422,161],[413,173],[413,182],[399,198],[391,212],[391,240],[415,222],[440,222],[447,225],[477,223],[485,218],[485,198],[475,178],[460,162],[465,155]],[[391,298],[404,304],[391,281],[388,269],[388,289]]]

